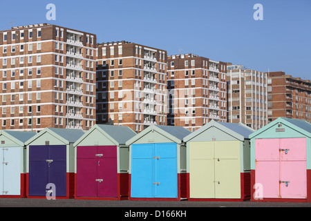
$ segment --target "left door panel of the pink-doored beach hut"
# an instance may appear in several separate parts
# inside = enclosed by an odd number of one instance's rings
[[[255,140],[255,182],[263,198],[279,198],[279,155],[279,139]]]

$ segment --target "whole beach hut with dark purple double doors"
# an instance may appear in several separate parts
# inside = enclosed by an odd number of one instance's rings
[[[26,142],[27,198],[73,198],[74,142],[84,131],[45,128]]]

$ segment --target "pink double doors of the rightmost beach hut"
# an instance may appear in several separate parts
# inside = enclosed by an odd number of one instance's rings
[[[305,138],[255,141],[255,182],[263,198],[306,198]]]

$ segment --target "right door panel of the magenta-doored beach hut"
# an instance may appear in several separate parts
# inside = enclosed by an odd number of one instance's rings
[[[117,146],[97,148],[98,197],[117,197]]]

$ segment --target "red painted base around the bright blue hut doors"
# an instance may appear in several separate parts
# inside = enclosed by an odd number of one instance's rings
[[[131,198],[131,174],[129,174],[129,200],[132,201],[180,201],[187,197],[187,174],[177,173],[177,198]]]

